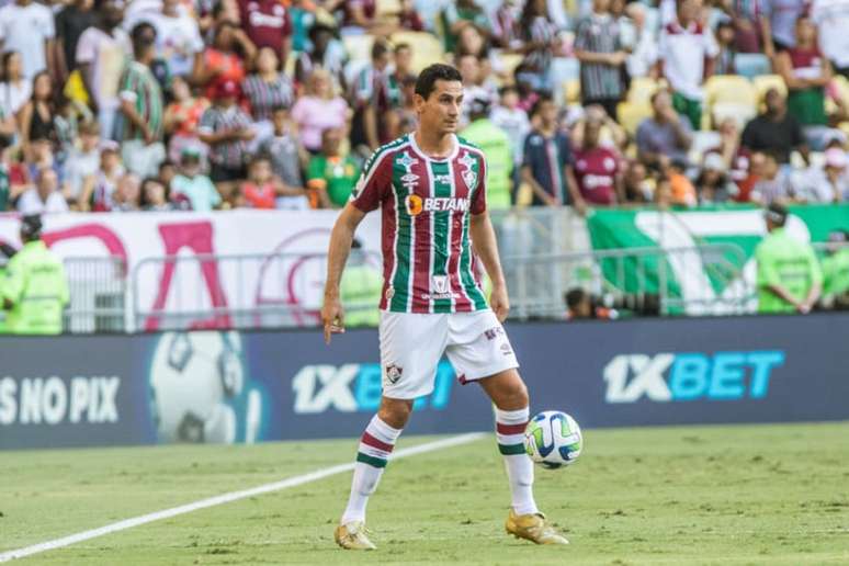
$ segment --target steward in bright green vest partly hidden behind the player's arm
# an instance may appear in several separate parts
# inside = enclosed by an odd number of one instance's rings
[[[351,256],[339,284],[339,298],[344,307],[344,326],[373,326],[381,322],[377,308],[383,292],[383,275],[370,264],[360,240],[353,240]]]

